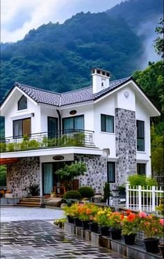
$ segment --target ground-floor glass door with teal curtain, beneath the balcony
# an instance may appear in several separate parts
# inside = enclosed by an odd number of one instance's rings
[[[43,194],[51,194],[54,189],[53,163],[42,165]]]

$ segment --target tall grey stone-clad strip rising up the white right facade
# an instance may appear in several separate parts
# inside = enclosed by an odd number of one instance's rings
[[[127,176],[136,174],[136,113],[115,109],[116,182],[122,185]]]

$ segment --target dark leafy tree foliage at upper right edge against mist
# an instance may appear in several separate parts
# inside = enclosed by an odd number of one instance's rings
[[[164,39],[163,39],[163,33],[164,33],[164,19],[161,18],[160,22],[158,22],[158,25],[156,27],[156,33],[160,36],[158,36],[155,40],[156,44],[154,45],[156,53],[163,58],[164,56]]]

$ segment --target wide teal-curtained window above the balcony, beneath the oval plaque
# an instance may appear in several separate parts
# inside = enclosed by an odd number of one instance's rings
[[[63,130],[84,130],[83,115],[63,118]]]

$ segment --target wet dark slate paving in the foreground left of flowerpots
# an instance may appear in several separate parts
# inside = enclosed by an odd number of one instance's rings
[[[92,246],[49,221],[9,221],[1,223],[1,256],[8,259],[40,258],[122,258],[100,246]]]

